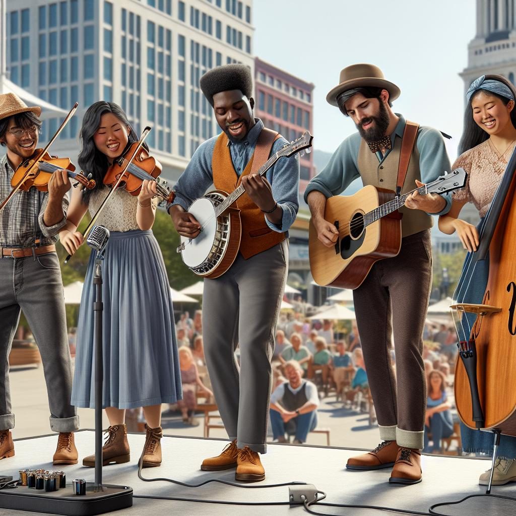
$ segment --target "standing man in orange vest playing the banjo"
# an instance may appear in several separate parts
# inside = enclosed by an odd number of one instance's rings
[[[222,133],[199,146],[176,183],[168,206],[176,230],[187,238],[199,235],[199,222],[186,210],[212,183],[228,193],[240,185],[246,191],[235,203],[242,224],[238,256],[222,276],[204,280],[204,354],[231,443],[201,469],[236,466],[236,480],[259,481],[265,478],[258,454],[267,451],[270,360],[287,276],[287,231],[299,207],[299,158],[282,157],[264,178],[254,173],[288,142],[253,117],[247,66],[214,68],[200,87]]]

